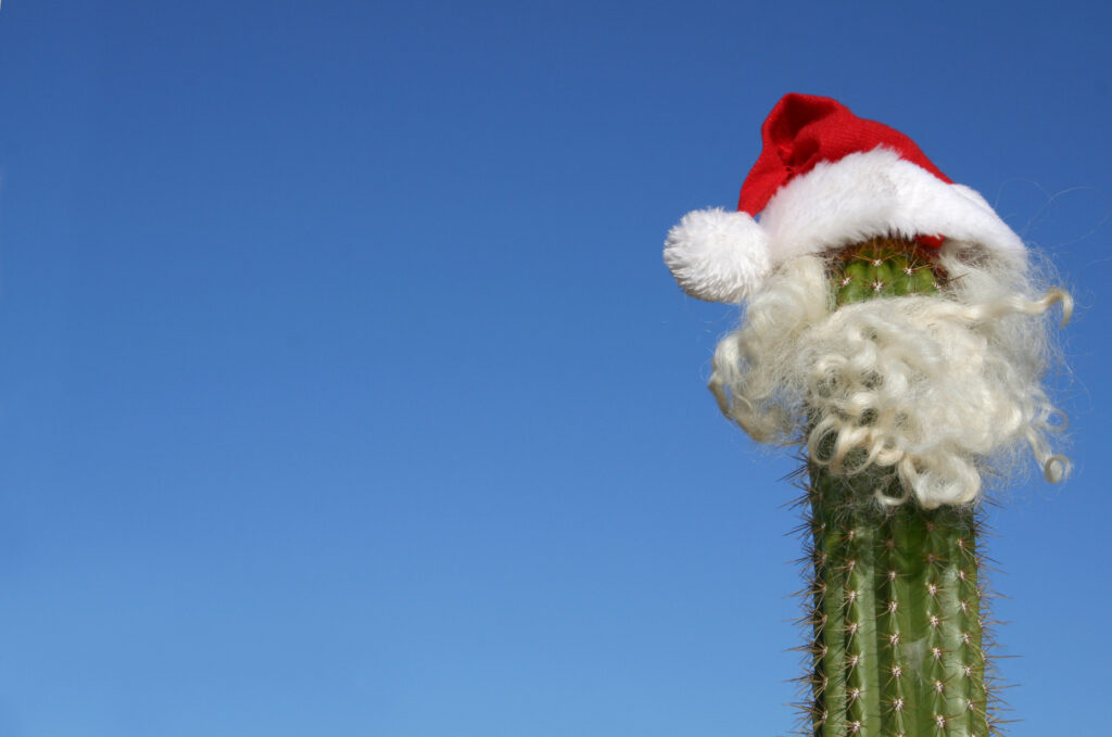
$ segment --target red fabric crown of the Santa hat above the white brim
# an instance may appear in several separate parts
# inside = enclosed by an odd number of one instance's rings
[[[785,94],[761,127],[761,157],[745,178],[737,202],[737,209],[749,215],[761,212],[776,190],[816,163],[881,146],[953,183],[910,138],[884,123],[858,118],[827,97]]]

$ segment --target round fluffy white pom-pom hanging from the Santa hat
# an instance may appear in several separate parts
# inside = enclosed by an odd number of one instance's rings
[[[739,302],[772,268],[768,236],[747,212],[688,212],[668,231],[664,262],[684,291],[711,302]]]

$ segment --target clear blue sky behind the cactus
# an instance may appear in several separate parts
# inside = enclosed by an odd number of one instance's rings
[[[786,91],[1074,291],[991,551],[1012,734],[1106,729],[1112,11],[898,4],[3,0],[0,735],[785,734],[792,464],[661,245]]]

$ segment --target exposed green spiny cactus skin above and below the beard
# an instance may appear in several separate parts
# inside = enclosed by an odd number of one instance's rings
[[[933,295],[945,275],[917,245],[880,238],[831,269],[838,306]],[[813,737],[989,737],[979,558],[971,507],[924,509],[891,472],[836,477],[808,462],[804,532],[814,585],[814,643],[804,680]]]

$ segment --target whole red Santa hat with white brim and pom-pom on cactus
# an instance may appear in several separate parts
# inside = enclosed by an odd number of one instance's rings
[[[973,242],[1025,262],[1023,241],[983,197],[900,131],[836,100],[785,94],[761,137],[737,212],[688,212],[668,233],[664,260],[692,297],[738,302],[790,258],[884,235]]]

